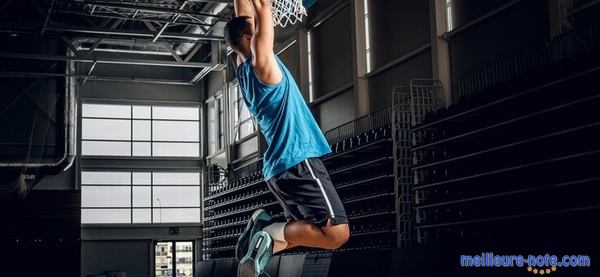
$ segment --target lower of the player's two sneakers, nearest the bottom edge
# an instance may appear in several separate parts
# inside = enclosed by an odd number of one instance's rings
[[[258,231],[250,241],[248,253],[242,257],[237,277],[268,276],[265,267],[273,256],[273,240],[267,232]]]

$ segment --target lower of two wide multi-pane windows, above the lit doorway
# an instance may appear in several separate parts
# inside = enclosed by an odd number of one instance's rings
[[[81,172],[81,223],[199,223],[200,173]]]

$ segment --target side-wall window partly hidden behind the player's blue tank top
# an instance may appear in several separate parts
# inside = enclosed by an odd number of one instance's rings
[[[246,106],[246,102],[244,101],[244,96],[242,95],[242,91],[238,84],[232,85],[231,95],[232,100],[232,141],[239,141],[249,135],[252,135],[256,131],[256,126],[254,124],[254,120],[250,111],[248,111],[248,107]]]

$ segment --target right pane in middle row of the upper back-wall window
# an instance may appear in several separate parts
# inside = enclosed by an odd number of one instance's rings
[[[153,141],[198,141],[200,131],[198,122],[154,121]]]

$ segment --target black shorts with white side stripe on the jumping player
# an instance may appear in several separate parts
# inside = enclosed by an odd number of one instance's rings
[[[278,173],[267,186],[288,221],[306,219],[319,227],[325,226],[328,218],[334,225],[348,223],[342,201],[319,158],[305,159]]]

